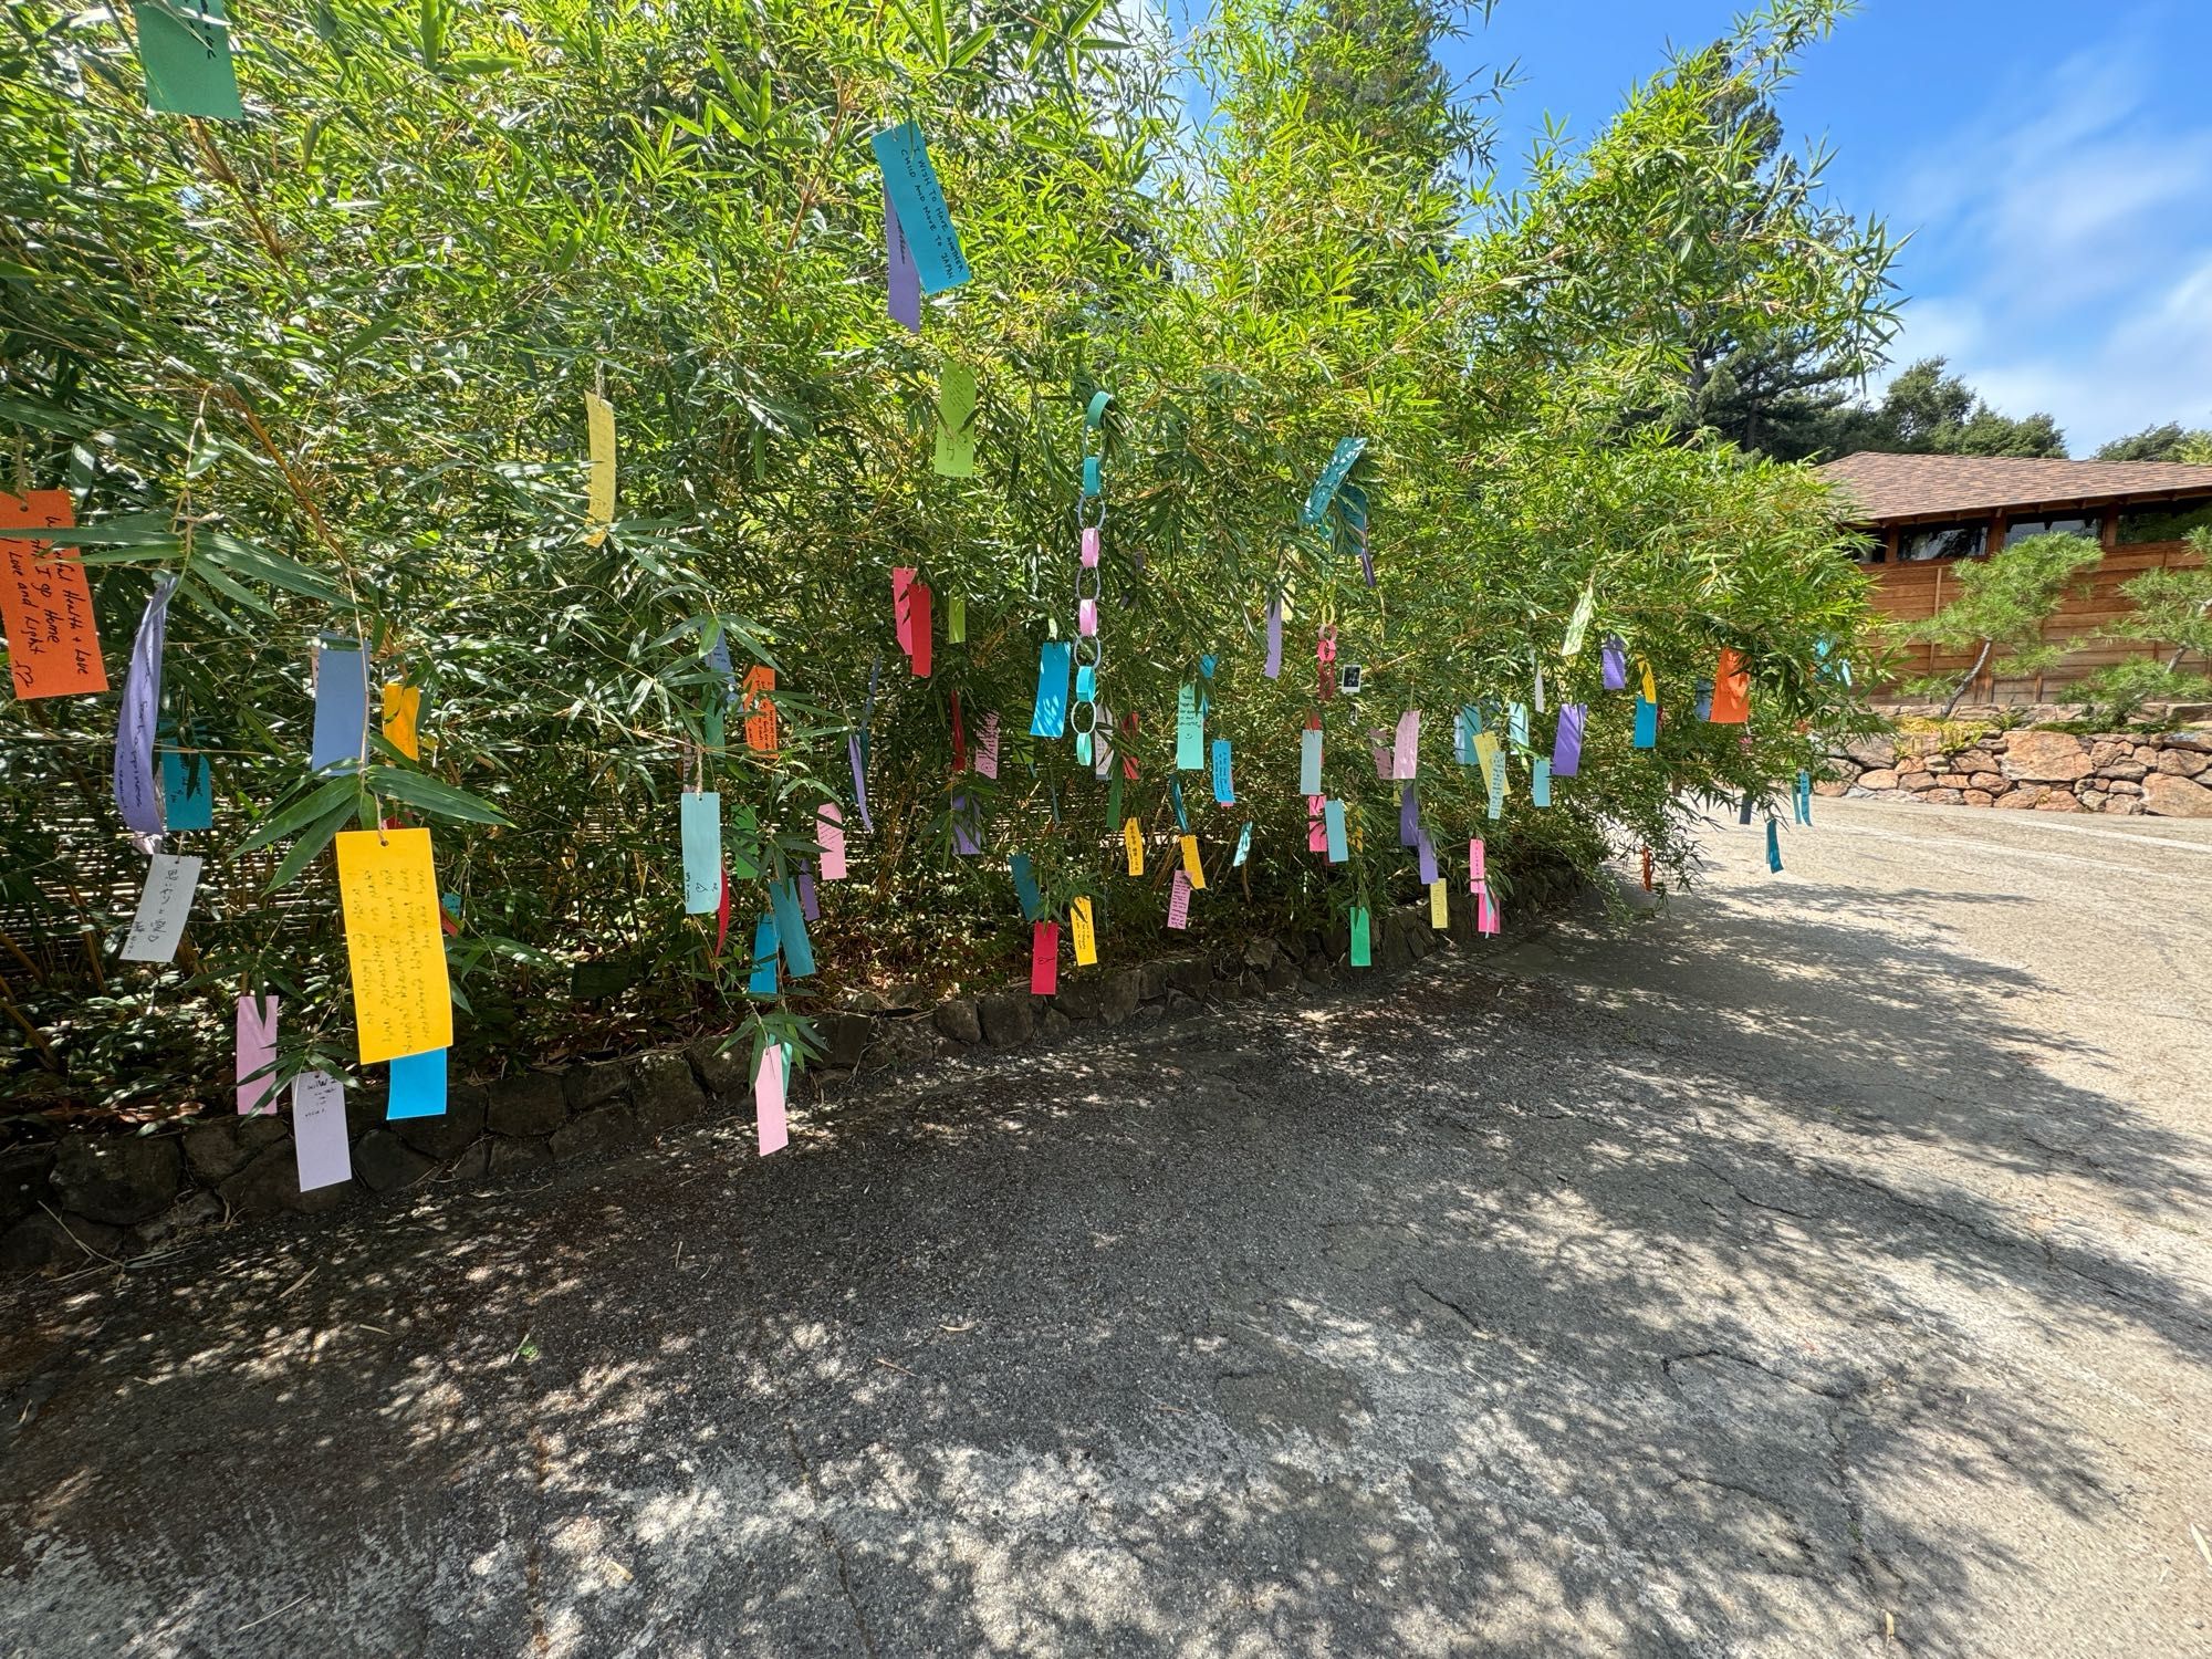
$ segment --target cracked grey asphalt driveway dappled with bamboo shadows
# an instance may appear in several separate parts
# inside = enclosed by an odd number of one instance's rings
[[[2212,1652],[2212,825],[1708,852],[0,1292],[0,1652]]]

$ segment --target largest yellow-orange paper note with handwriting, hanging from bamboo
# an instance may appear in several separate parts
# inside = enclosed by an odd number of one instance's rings
[[[341,832],[338,898],[361,1064],[451,1048],[453,993],[429,830]]]

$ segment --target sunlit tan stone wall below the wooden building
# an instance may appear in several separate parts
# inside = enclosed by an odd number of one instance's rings
[[[2015,728],[1964,741],[1955,732],[1851,739],[1829,754],[1814,790],[1953,807],[2212,818],[2212,730],[2075,737]]]

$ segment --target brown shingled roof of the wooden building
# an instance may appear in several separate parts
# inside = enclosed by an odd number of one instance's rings
[[[2212,495],[2212,467],[2172,460],[2031,460],[2024,456],[1878,456],[1820,467],[1860,524],[1900,518],[1973,518],[2000,507],[2077,507],[2115,500]]]

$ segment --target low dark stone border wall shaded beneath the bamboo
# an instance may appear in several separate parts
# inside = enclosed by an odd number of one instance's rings
[[[1526,883],[1524,883],[1526,889]],[[1520,894],[1526,909],[1542,894]],[[1473,947],[1473,898],[1455,894],[1451,931],[1429,911],[1380,911],[1374,971],[1405,969],[1447,940]],[[1086,1026],[1146,1024],[1201,1002],[1234,1002],[1345,975],[1349,940],[1254,938],[1230,956],[1188,956],[1068,973],[1060,995],[1026,989],[953,998],[858,993],[814,1020],[823,1060],[807,1068],[834,1091],[856,1073],[918,1066],[967,1048],[1055,1042]],[[1360,969],[1367,973],[1367,969]],[[706,1115],[750,1115],[750,1042],[719,1037],[688,1048],[529,1071],[489,1086],[453,1084],[445,1117],[385,1121],[383,1091],[349,1088],[345,1115],[354,1179],[299,1190],[290,1113],[195,1117],[155,1133],[69,1130],[0,1150],[0,1272],[73,1270],[131,1259],[234,1217],[321,1214],[405,1192],[434,1179],[540,1177],[659,1139]]]

